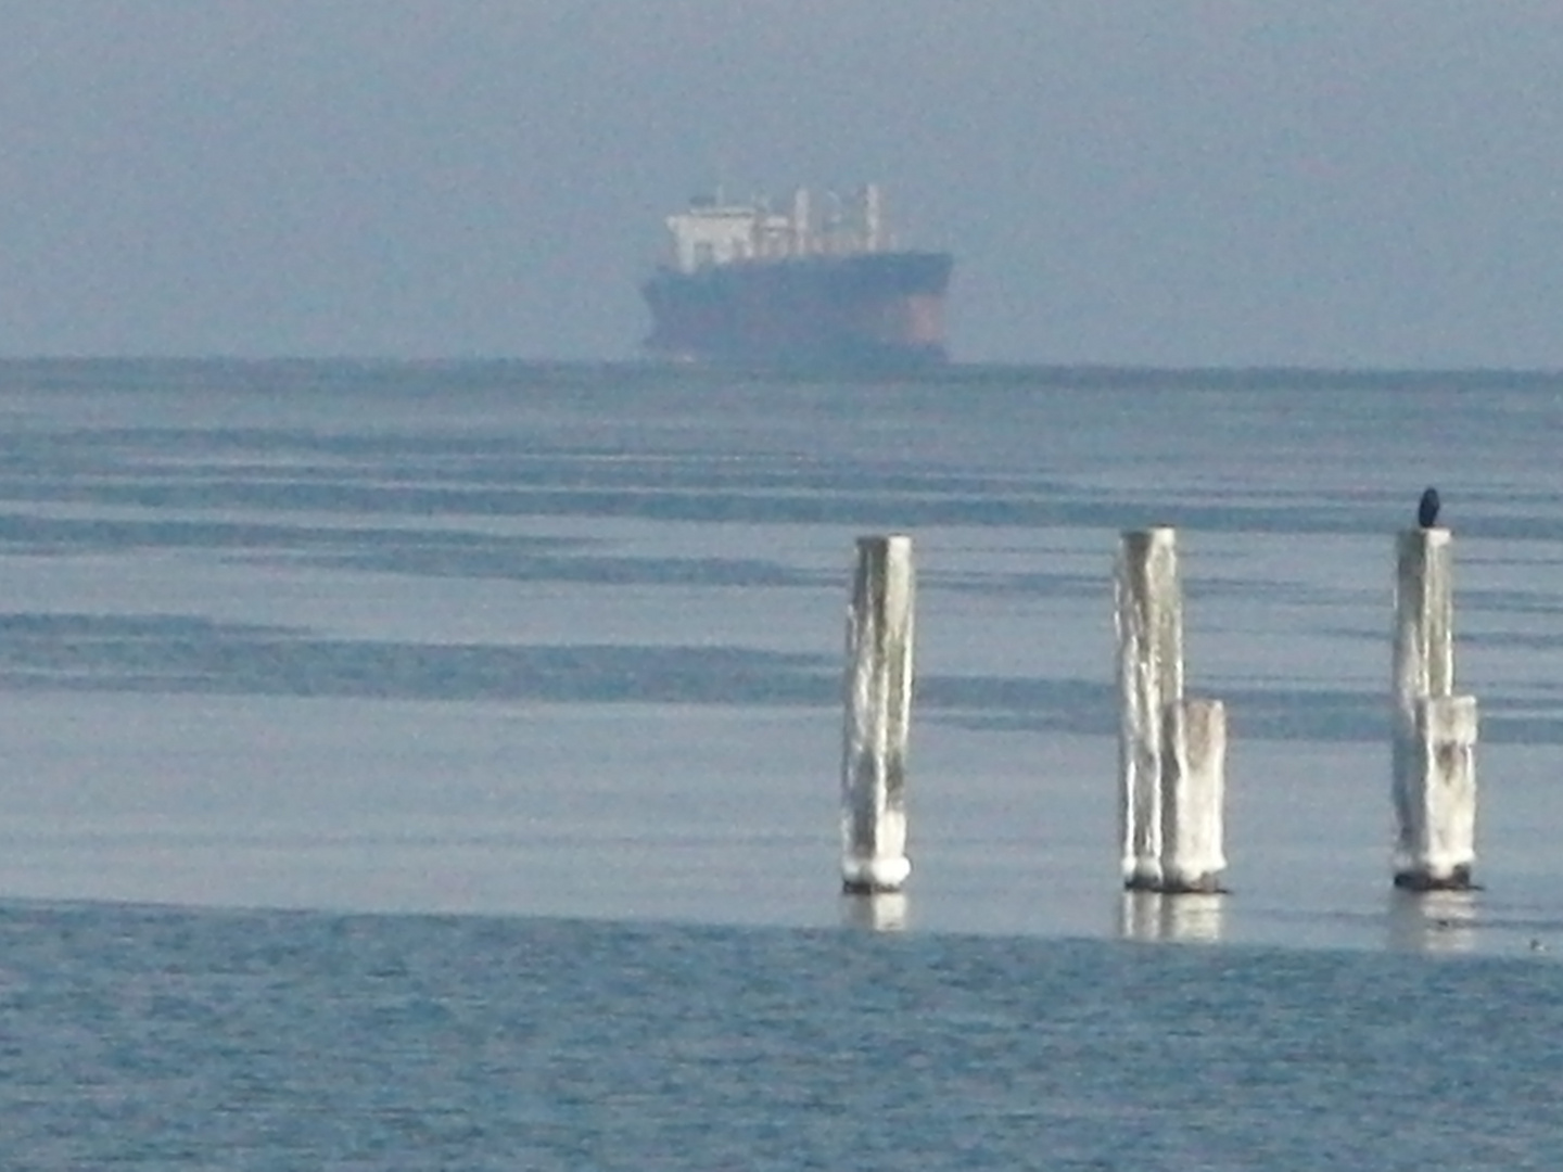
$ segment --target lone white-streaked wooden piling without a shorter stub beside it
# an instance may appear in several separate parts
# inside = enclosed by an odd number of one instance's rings
[[[858,538],[841,750],[841,881],[849,892],[899,891],[911,874],[907,734],[914,592],[911,538]]]

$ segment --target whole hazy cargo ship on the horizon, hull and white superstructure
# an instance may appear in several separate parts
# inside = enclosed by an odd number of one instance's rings
[[[769,200],[696,198],[667,217],[666,258],[642,286],[646,348],[675,361],[900,369],[947,361],[953,258],[896,247],[880,191],[807,189]]]

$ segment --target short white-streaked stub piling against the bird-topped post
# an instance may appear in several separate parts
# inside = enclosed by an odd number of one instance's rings
[[[1407,772],[1402,850],[1394,884],[1411,891],[1465,891],[1475,864],[1474,695],[1430,695],[1416,705],[1413,769]]]

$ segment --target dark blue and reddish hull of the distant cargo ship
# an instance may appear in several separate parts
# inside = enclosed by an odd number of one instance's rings
[[[642,288],[650,353],[697,363],[908,367],[947,359],[953,261],[877,252],[660,269]]]

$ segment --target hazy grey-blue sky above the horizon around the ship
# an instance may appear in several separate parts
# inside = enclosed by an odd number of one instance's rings
[[[958,358],[1563,369],[1560,0],[0,0],[0,353],[627,358],[878,180]]]

